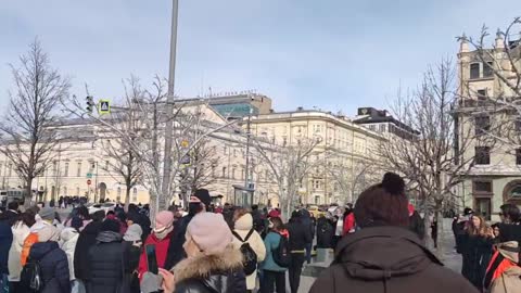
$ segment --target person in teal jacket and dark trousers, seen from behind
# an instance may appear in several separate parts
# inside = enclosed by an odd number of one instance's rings
[[[274,259],[274,251],[280,244],[282,231],[284,226],[282,220],[278,217],[269,219],[269,233],[264,239],[264,245],[266,246],[266,259],[260,264],[263,270],[263,279],[260,280],[262,293],[284,293],[285,292],[285,271],[288,268],[283,268]],[[277,291],[275,291],[277,290]]]

